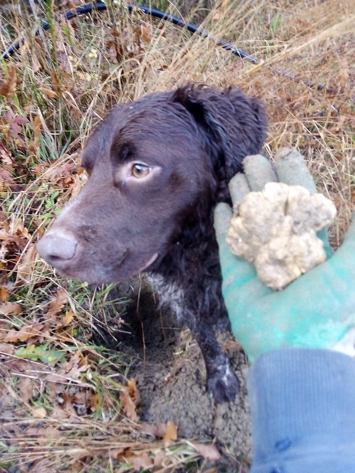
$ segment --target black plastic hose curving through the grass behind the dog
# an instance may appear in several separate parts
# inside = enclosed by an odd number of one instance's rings
[[[62,16],[61,15],[56,16],[55,20],[60,21],[61,18],[64,18],[66,20],[70,20],[72,18],[75,18],[76,16],[84,15],[86,13],[91,13],[93,8],[98,10],[98,11],[102,11],[102,10],[106,10],[107,6],[105,5],[104,2],[101,2],[101,1],[98,0],[98,1],[95,2],[95,6],[93,6],[93,4],[86,4],[86,5],[83,5],[81,7],[77,7],[75,10],[67,10],[66,12],[63,13]],[[132,12],[132,10],[134,8],[137,8],[137,9],[143,11],[147,15],[151,15],[153,17],[160,18],[161,20],[169,21],[170,23],[172,23],[174,25],[187,28],[192,33],[198,33],[203,38],[207,38],[207,37],[210,36],[208,31],[206,31],[204,28],[201,28],[200,26],[196,26],[193,23],[188,23],[187,21],[183,20],[182,18],[177,18],[176,16],[170,15],[169,13],[162,12],[162,11],[157,10],[155,8],[152,8],[152,7],[147,7],[146,5],[132,5],[132,4],[128,5],[128,11],[130,13]],[[42,23],[42,29],[48,30],[49,28],[50,28],[50,24],[47,21],[44,21]],[[39,33],[40,33],[39,29],[36,29],[34,31],[34,34],[36,36]],[[24,41],[25,41],[24,38],[21,38],[20,40],[14,41],[8,48],[6,48],[5,51],[3,51],[1,53],[1,58],[2,59],[8,59],[10,56],[12,56],[15,53],[15,51],[17,51],[20,48],[21,44],[23,44]],[[254,63],[259,62],[259,59],[257,57],[252,56],[251,54],[248,54],[247,52],[237,48],[236,46],[233,46],[231,43],[228,43],[227,41],[219,39],[219,40],[216,41],[216,44],[218,46],[222,46],[222,48],[224,48],[225,50],[230,51],[235,56],[238,56],[238,57],[243,58],[243,59],[247,59],[248,61],[251,61],[251,62],[254,62]],[[291,78],[295,81],[302,82],[302,84],[305,84],[307,87],[315,87],[316,86],[317,90],[325,89],[325,86],[323,84],[315,84],[314,82],[307,81],[306,79],[298,78],[297,76],[295,76],[294,74],[291,74],[291,72],[287,72],[286,70],[282,70],[282,69],[279,69],[279,68],[272,68],[272,70],[274,70],[275,72],[277,72],[277,74],[279,74],[283,77],[289,77],[289,78]],[[334,89],[326,89],[326,91],[328,93],[335,93]]]

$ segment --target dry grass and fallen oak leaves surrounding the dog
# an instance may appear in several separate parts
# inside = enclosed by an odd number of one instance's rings
[[[101,15],[53,22],[36,39],[32,21],[38,17],[30,20],[15,3],[3,9],[3,48],[16,35],[26,38],[20,53],[3,61],[0,85],[4,471],[134,471],[139,461],[155,461],[154,471],[183,465],[195,471],[203,457],[190,442],[170,447],[150,442],[135,421],[118,413],[127,360],[89,343],[108,313],[108,291],[97,289],[94,299],[85,284],[53,275],[33,249],[57,209],[84,183],[78,151],[115,103],[186,81],[242,87],[267,104],[265,152],[272,156],[282,146],[299,148],[319,191],[335,202],[338,216],[330,231],[335,248],[355,203],[351,0],[222,1],[203,21],[209,39],[139,11],[128,16],[125,5],[114,4]],[[213,38],[220,37],[260,62],[217,48]],[[278,74],[277,68],[297,79]],[[308,87],[304,80],[324,88]],[[49,316],[57,287],[64,288],[65,302]],[[5,309],[10,303],[18,305]],[[67,320],[72,317],[67,324],[66,313]],[[115,317],[119,325],[119,313]],[[23,326],[32,330],[30,336],[4,338]],[[51,381],[58,373],[65,389]]]

